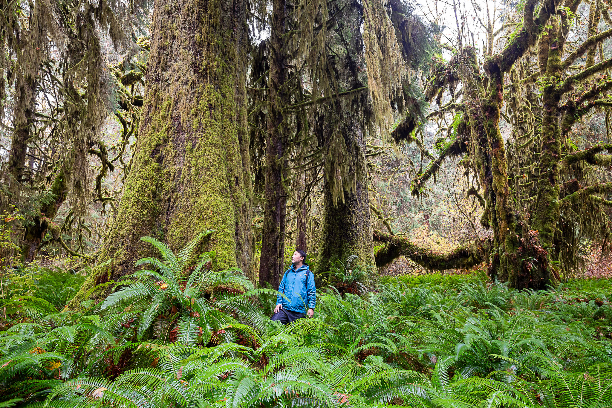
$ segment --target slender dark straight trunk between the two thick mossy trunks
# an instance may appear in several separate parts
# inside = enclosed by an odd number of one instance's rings
[[[283,188],[286,177],[285,121],[283,106],[285,90],[285,0],[272,1],[272,25],[270,31],[270,80],[268,81],[268,121],[266,135],[266,168],[263,231],[261,232],[261,258],[259,259],[259,286],[266,283],[277,289],[284,272],[285,219],[287,195]]]

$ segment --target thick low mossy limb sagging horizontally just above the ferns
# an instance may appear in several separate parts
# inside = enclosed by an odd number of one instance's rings
[[[487,259],[491,245],[489,238],[474,240],[449,253],[441,254],[429,248],[419,247],[406,237],[392,236],[378,230],[373,232],[373,238],[375,241],[387,244],[375,253],[377,267],[387,265],[403,255],[428,270],[469,268]]]

